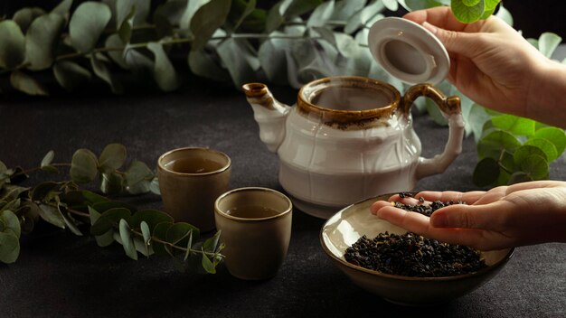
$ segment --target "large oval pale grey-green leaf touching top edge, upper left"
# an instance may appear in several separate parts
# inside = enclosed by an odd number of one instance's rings
[[[106,4],[93,1],[80,4],[69,23],[71,45],[78,51],[92,51],[111,16],[110,8]]]

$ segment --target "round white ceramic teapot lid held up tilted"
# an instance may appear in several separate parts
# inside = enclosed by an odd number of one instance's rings
[[[386,17],[373,23],[368,44],[373,58],[384,70],[409,84],[438,84],[450,70],[442,42],[407,19]]]

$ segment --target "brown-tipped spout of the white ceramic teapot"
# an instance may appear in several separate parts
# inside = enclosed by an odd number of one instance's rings
[[[291,108],[273,98],[265,84],[248,83],[242,89],[259,125],[259,138],[269,151],[276,153],[285,139],[285,122]]]

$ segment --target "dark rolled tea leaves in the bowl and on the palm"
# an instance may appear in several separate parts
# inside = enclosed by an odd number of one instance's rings
[[[435,201],[429,205],[408,205],[393,202],[393,205],[430,216],[435,210],[459,203]],[[427,239],[412,232],[385,232],[373,239],[363,236],[346,248],[344,258],[359,267],[410,277],[457,276],[486,267],[486,262],[474,248]]]

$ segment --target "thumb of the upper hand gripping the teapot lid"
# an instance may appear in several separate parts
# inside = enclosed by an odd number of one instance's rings
[[[476,50],[480,47],[477,45],[480,40],[477,33],[445,30],[426,21],[422,23],[422,26],[429,30],[430,33],[433,33],[449,52],[471,59],[476,55]]]

